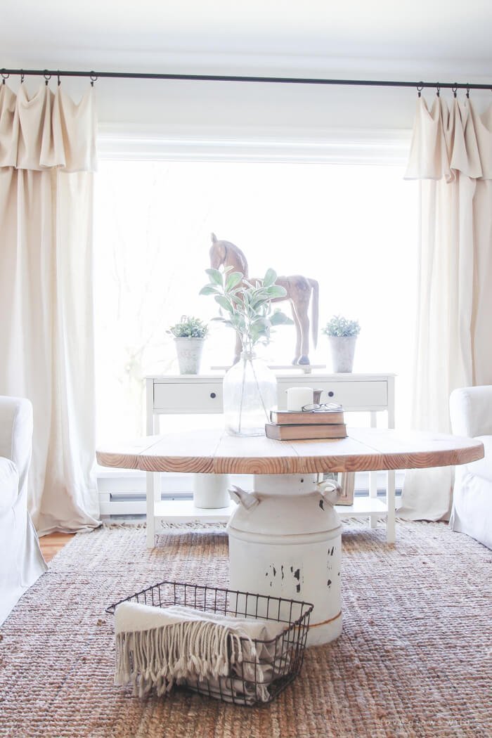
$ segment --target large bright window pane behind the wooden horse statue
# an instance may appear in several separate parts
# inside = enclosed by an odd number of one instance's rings
[[[177,373],[169,325],[217,314],[198,295],[211,232],[245,252],[251,275],[315,277],[320,328],[336,313],[357,318],[354,370],[398,375],[397,424],[408,425],[418,215],[402,167],[107,159],[96,187],[100,439],[145,430],[145,376]],[[232,331],[212,323],[202,371],[229,364],[233,348]],[[259,353],[288,365],[293,350],[294,326],[280,326]],[[330,370],[321,333],[311,362]]]

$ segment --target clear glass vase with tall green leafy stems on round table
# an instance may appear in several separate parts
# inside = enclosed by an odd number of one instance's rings
[[[265,435],[270,411],[277,407],[277,379],[254,354],[259,342],[268,343],[271,328],[292,323],[282,311],[271,309],[271,300],[285,297],[277,274],[268,269],[263,280],[249,282],[240,272],[206,269],[209,283],[200,294],[210,294],[221,308],[221,320],[234,328],[243,351],[237,364],[224,376],[224,419],[230,435]]]

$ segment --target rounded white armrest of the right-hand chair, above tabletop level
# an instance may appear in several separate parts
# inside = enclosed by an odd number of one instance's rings
[[[492,435],[492,385],[462,387],[451,392],[449,414],[455,435]]]

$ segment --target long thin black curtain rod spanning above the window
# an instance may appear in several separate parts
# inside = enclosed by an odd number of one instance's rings
[[[407,82],[396,80],[330,80],[319,77],[249,77],[241,75],[178,75],[178,74],[154,74],[152,72],[71,72],[61,69],[0,69],[1,76],[5,79],[10,75],[20,77],[89,77],[91,82],[111,77],[125,80],[188,80],[208,82],[267,82],[275,84],[297,84],[297,85],[349,85],[363,87],[415,87],[417,89],[437,88],[439,89],[465,89],[465,90],[491,90],[489,85],[458,83],[458,82]]]

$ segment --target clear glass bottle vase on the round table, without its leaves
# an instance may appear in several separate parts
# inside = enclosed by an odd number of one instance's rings
[[[224,420],[229,435],[265,435],[277,409],[277,378],[265,362],[243,351],[224,376]]]

